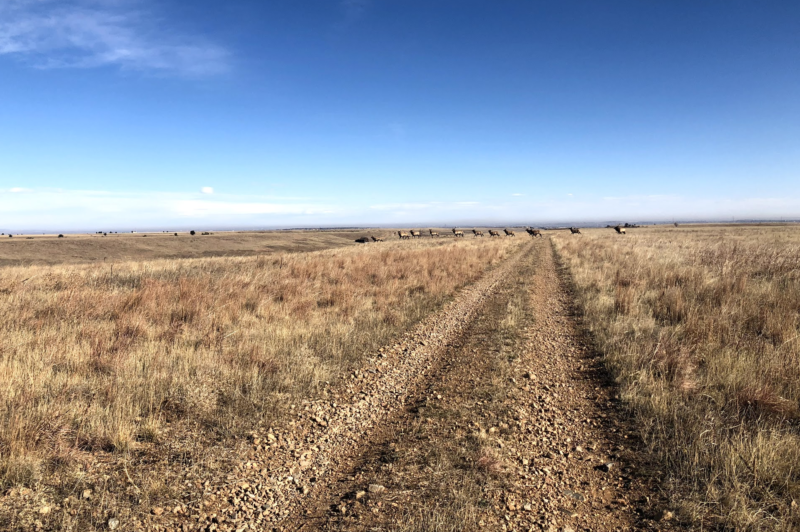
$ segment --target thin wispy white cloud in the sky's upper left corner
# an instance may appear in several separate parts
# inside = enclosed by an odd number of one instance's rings
[[[0,55],[37,68],[157,71],[189,76],[228,69],[229,53],[162,27],[144,0],[2,0]]]

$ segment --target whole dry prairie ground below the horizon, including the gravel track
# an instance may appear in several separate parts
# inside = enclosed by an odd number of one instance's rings
[[[0,242],[0,528],[797,529],[800,228],[582,233]]]

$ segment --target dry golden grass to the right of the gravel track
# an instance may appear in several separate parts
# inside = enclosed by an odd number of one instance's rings
[[[682,516],[800,527],[800,228],[560,234],[578,306]]]

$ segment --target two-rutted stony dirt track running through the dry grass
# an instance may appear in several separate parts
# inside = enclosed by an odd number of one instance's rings
[[[170,528],[667,529],[614,393],[549,241],[531,242],[346,386],[254,434]]]

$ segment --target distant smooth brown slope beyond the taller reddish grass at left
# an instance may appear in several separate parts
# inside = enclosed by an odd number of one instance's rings
[[[77,264],[90,262],[142,261],[153,259],[252,256],[338,248],[377,231],[201,231],[188,232],[14,235],[0,236],[0,266]],[[396,235],[395,235],[396,236]]]

